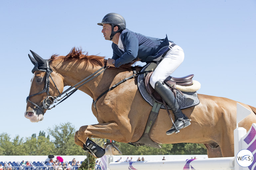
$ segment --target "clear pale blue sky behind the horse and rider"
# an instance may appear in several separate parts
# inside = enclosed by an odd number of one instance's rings
[[[97,23],[111,12],[121,14],[130,30],[158,38],[167,34],[183,48],[184,62],[172,76],[194,74],[201,83],[198,93],[256,107],[255,0],[10,0],[0,6],[0,134],[30,137],[60,123],[71,122],[77,130],[97,123],[92,99],[81,91],[47,111],[39,123],[24,117],[33,75],[28,53],[48,59],[81,47],[110,58],[111,41]]]

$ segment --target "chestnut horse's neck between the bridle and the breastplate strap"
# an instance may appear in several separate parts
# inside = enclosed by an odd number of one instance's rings
[[[64,86],[73,86],[102,67],[92,66],[85,62],[86,61],[53,62],[53,68],[63,77]],[[128,71],[128,69],[127,71],[114,68],[106,69],[101,75],[81,86],[79,90],[90,95],[93,99],[96,99],[112,85],[128,77],[130,72],[131,71]]]

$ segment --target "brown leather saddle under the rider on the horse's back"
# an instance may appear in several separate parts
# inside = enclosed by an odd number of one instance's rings
[[[150,85],[149,80],[153,72],[148,73],[144,78],[145,87],[148,91],[148,93],[159,103],[163,103],[162,97],[155,91],[155,89]],[[194,77],[193,74],[181,77],[181,78],[175,78],[175,77],[167,77],[167,79],[164,81],[164,83],[172,90],[174,93],[174,96],[176,97],[176,90],[178,90],[182,95],[183,93],[176,88],[176,85],[182,85],[182,86],[190,86],[193,84],[192,78]]]

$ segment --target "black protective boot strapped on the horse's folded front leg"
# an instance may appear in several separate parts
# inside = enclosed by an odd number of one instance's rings
[[[97,145],[95,142],[90,140],[89,138],[86,140],[85,144],[83,144],[83,150],[89,152],[96,158],[100,158],[105,154],[105,149]]]

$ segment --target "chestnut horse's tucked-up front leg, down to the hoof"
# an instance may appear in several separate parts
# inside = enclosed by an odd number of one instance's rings
[[[96,124],[96,125],[87,125],[80,127],[79,131],[75,133],[75,143],[86,150],[86,147],[97,147],[97,150],[102,149],[101,147],[88,139],[88,137],[93,138],[103,138],[103,139],[111,139],[118,142],[130,142],[132,135],[127,133],[131,130],[130,128],[120,128],[117,126],[115,122],[108,122],[104,124]],[[118,134],[118,135],[117,135]],[[95,150],[94,150],[95,151]],[[93,152],[89,149],[89,152]],[[117,155],[121,154],[116,145],[107,144],[104,145],[105,155]],[[97,155],[98,153],[98,155]],[[95,157],[99,156],[99,152],[94,154]],[[102,154],[102,152],[100,153]],[[103,155],[102,155],[103,156]]]

